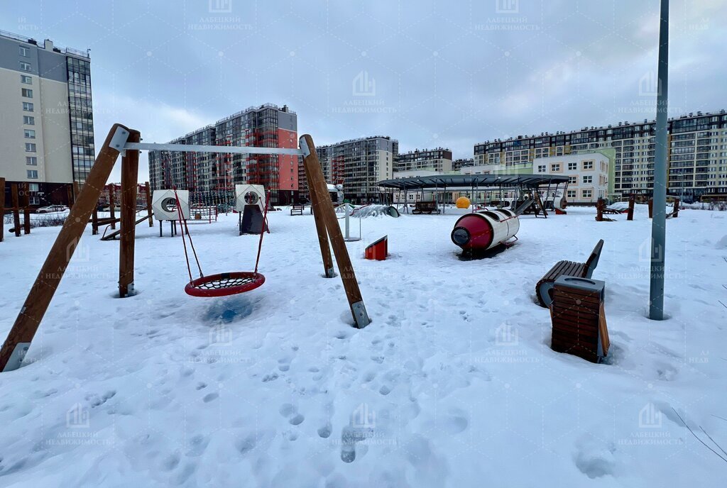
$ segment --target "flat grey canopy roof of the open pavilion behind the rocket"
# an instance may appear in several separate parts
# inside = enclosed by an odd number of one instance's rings
[[[482,187],[537,187],[542,184],[567,183],[568,176],[555,174],[439,174],[436,176],[412,176],[411,178],[385,179],[379,187],[395,190],[419,190],[421,188],[482,188]]]

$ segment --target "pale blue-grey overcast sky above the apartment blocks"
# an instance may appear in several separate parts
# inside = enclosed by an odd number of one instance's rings
[[[91,49],[99,145],[114,122],[167,142],[270,102],[318,145],[387,135],[471,158],[655,114],[657,0],[3,0],[0,19]],[[726,1],[672,0],[671,115],[727,106],[726,19]]]

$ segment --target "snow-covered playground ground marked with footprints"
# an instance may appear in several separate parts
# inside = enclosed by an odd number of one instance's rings
[[[364,219],[348,244],[363,330],[321,277],[310,214],[271,214],[265,285],[219,299],[185,295],[180,237],[145,223],[139,293],[114,298],[119,244],[89,228],[29,364],[0,374],[0,486],[723,486],[675,411],[727,448],[727,213],[668,221],[663,322],[646,318],[646,207],[594,215],[523,217],[478,261],[458,259],[454,213]],[[236,216],[190,227],[206,273],[252,270]],[[58,231],[0,243],[2,338]],[[382,235],[390,259],[363,259]],[[534,285],[599,238],[611,351],[595,365],[550,349]]]

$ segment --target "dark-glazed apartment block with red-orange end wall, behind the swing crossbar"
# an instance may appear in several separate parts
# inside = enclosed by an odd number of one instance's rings
[[[286,105],[249,107],[170,144],[298,147],[297,115]],[[149,178],[154,190],[190,190],[194,201],[228,201],[234,185],[262,184],[273,204],[297,200],[298,157],[294,155],[150,151]]]

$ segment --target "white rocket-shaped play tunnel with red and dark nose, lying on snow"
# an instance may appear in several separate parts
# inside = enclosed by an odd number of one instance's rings
[[[498,208],[459,217],[451,240],[465,251],[485,251],[499,244],[513,244],[518,230],[520,220],[515,212]]]

